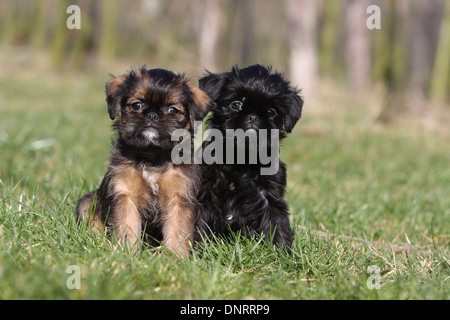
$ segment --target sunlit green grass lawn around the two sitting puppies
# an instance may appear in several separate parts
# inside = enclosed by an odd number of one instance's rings
[[[325,113],[306,104],[283,143],[290,256],[236,235],[178,260],[78,228],[75,203],[109,157],[106,80],[0,77],[0,299],[450,298],[448,139],[364,125],[345,99]]]

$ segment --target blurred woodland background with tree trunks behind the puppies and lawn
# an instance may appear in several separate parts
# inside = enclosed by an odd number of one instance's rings
[[[66,25],[72,4],[80,8],[80,29]],[[368,11],[373,5],[379,12]],[[450,5],[445,0],[0,1],[0,73],[11,77],[120,74],[146,64],[186,72],[196,82],[205,69],[254,63],[285,71],[307,102],[336,90],[371,103],[367,113],[374,121],[408,115],[433,126],[433,110],[447,109],[450,101]]]

